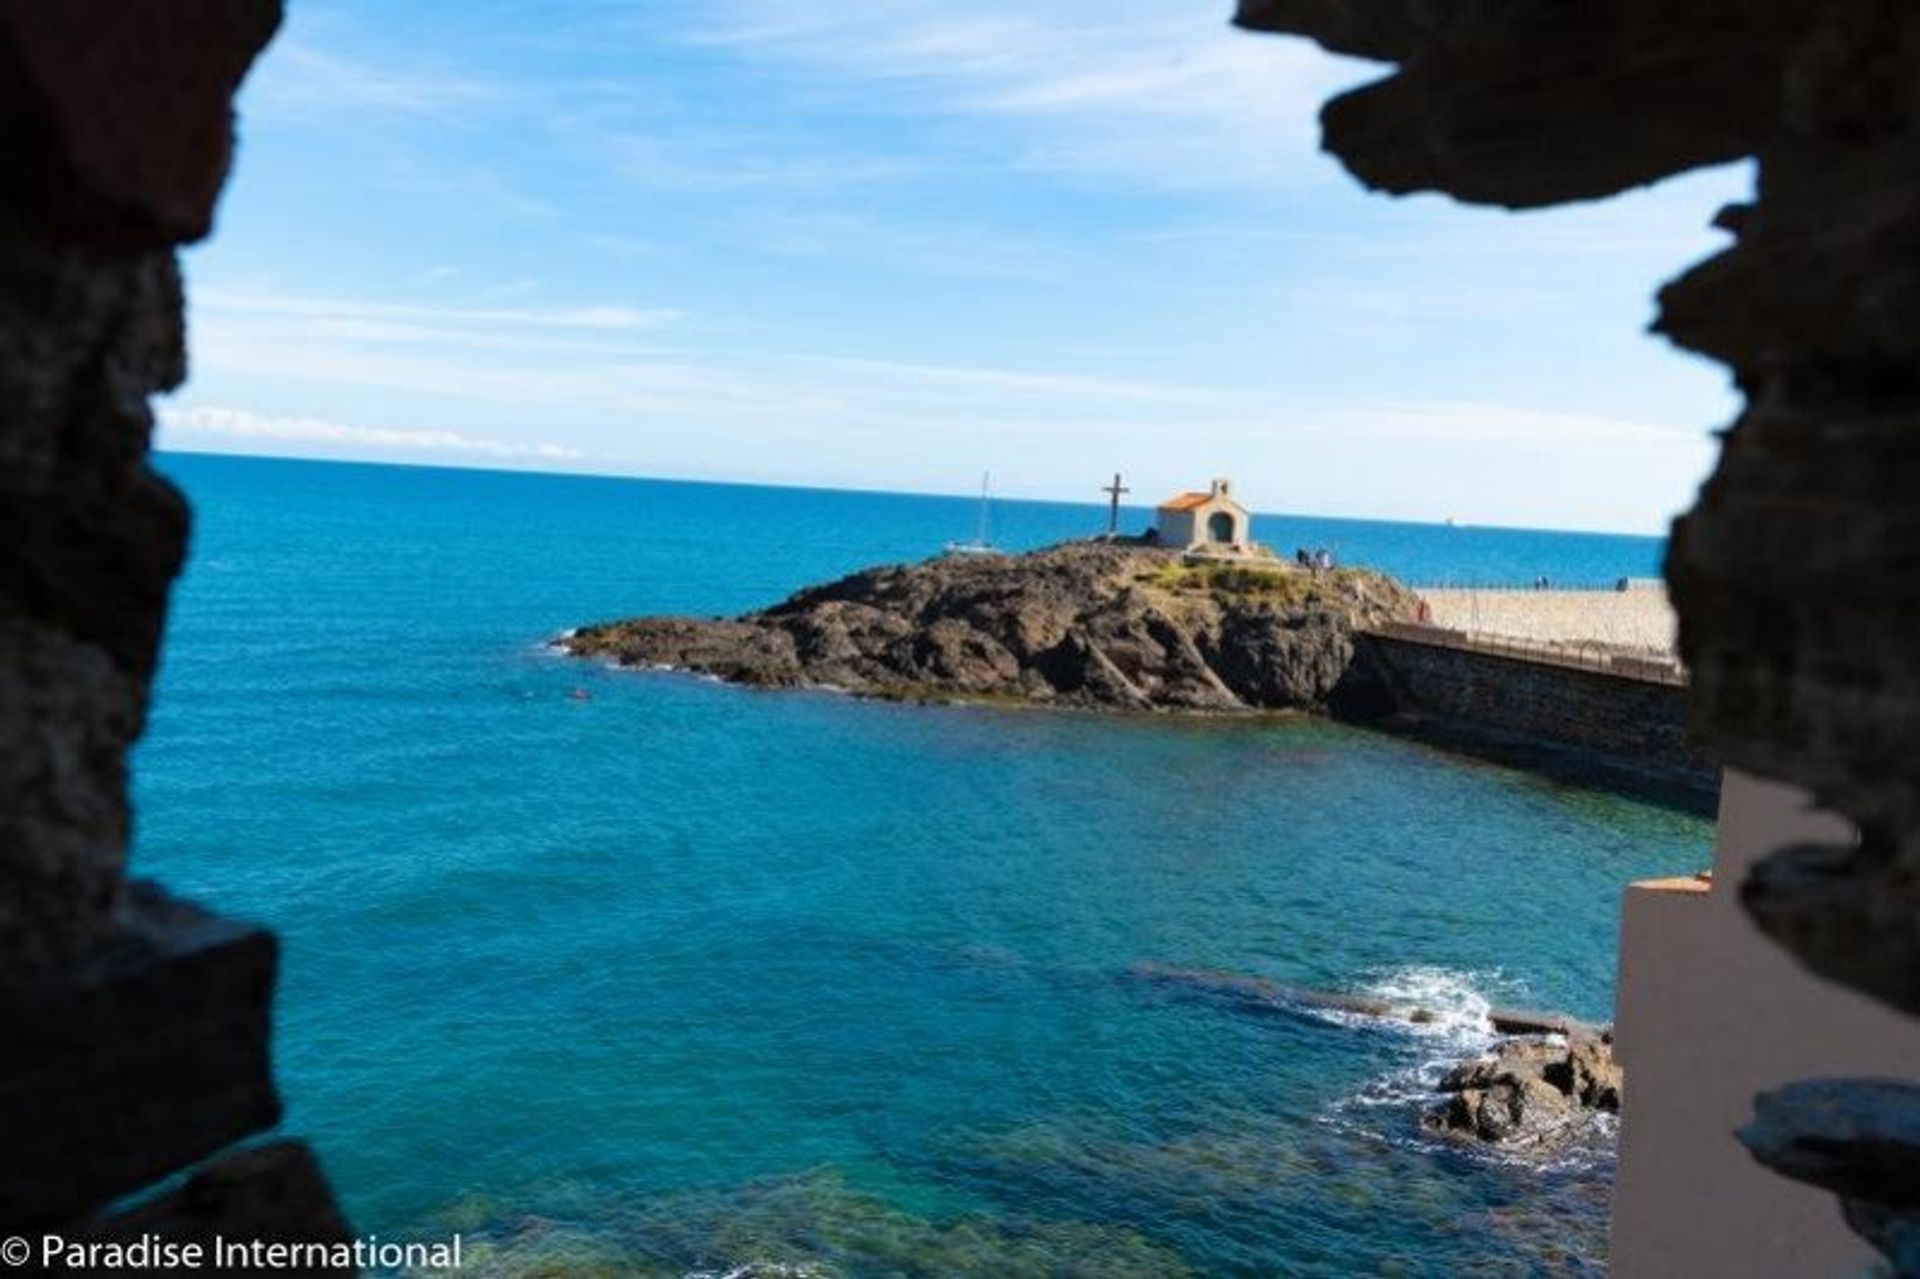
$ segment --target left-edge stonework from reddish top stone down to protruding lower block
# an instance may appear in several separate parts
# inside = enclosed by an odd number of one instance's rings
[[[276,0],[0,0],[0,962],[98,945],[186,503],[148,398],[186,376],[205,234]]]

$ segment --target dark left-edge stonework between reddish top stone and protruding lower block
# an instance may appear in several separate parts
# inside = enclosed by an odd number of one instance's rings
[[[0,962],[109,928],[125,757],[146,722],[186,503],[146,465],[184,376],[171,253],[50,240],[0,209]]]

